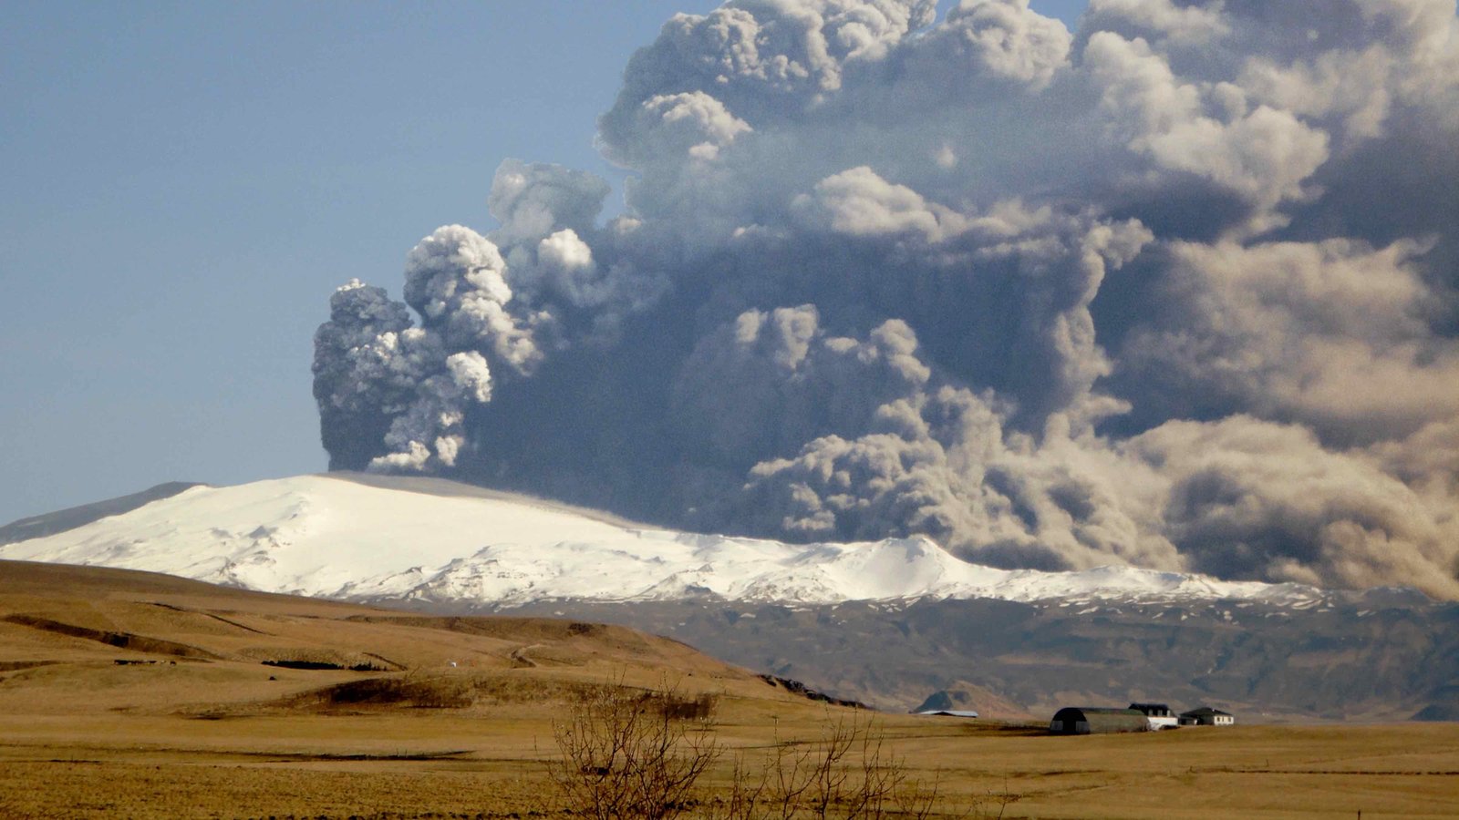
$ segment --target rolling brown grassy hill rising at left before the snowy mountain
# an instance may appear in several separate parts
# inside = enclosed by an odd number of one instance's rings
[[[797,700],[746,670],[623,626],[419,616],[146,572],[0,562],[0,709],[328,709],[338,687],[359,695],[371,687],[365,680],[381,693],[352,708],[391,697],[550,708],[605,680]]]

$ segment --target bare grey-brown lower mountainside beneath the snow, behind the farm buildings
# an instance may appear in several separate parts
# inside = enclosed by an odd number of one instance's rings
[[[1247,722],[1402,721],[1447,702],[1459,681],[1459,604],[1373,601],[1382,597],[1310,608],[922,600],[556,601],[516,611],[632,624],[881,709],[910,711],[961,680],[1036,716],[1074,700],[1160,700]]]

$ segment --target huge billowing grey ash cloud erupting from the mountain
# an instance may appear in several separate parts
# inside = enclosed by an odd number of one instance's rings
[[[600,121],[623,216],[508,160],[404,305],[334,295],[331,467],[1459,598],[1453,0],[934,12],[665,23]]]

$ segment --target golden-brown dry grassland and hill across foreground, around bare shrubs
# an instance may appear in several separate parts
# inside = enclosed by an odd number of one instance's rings
[[[1456,724],[1056,738],[826,706],[622,627],[9,562],[0,817],[566,817],[554,725],[610,683],[712,699],[703,811],[735,759],[871,721],[934,817],[1459,817]]]

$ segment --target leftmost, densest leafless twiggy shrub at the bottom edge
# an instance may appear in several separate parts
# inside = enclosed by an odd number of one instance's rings
[[[585,690],[553,727],[560,757],[553,782],[573,814],[595,820],[661,820],[689,808],[700,775],[719,759],[709,732],[712,699],[680,697],[671,687]]]

